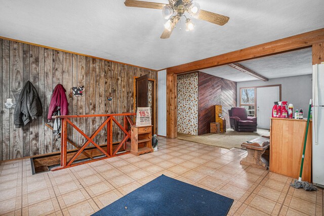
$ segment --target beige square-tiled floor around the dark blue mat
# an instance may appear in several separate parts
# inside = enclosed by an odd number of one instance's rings
[[[0,165],[1,215],[89,215],[164,174],[234,199],[229,215],[323,215],[323,190],[241,166],[246,151],[159,137],[159,150],[31,175],[30,160]]]

